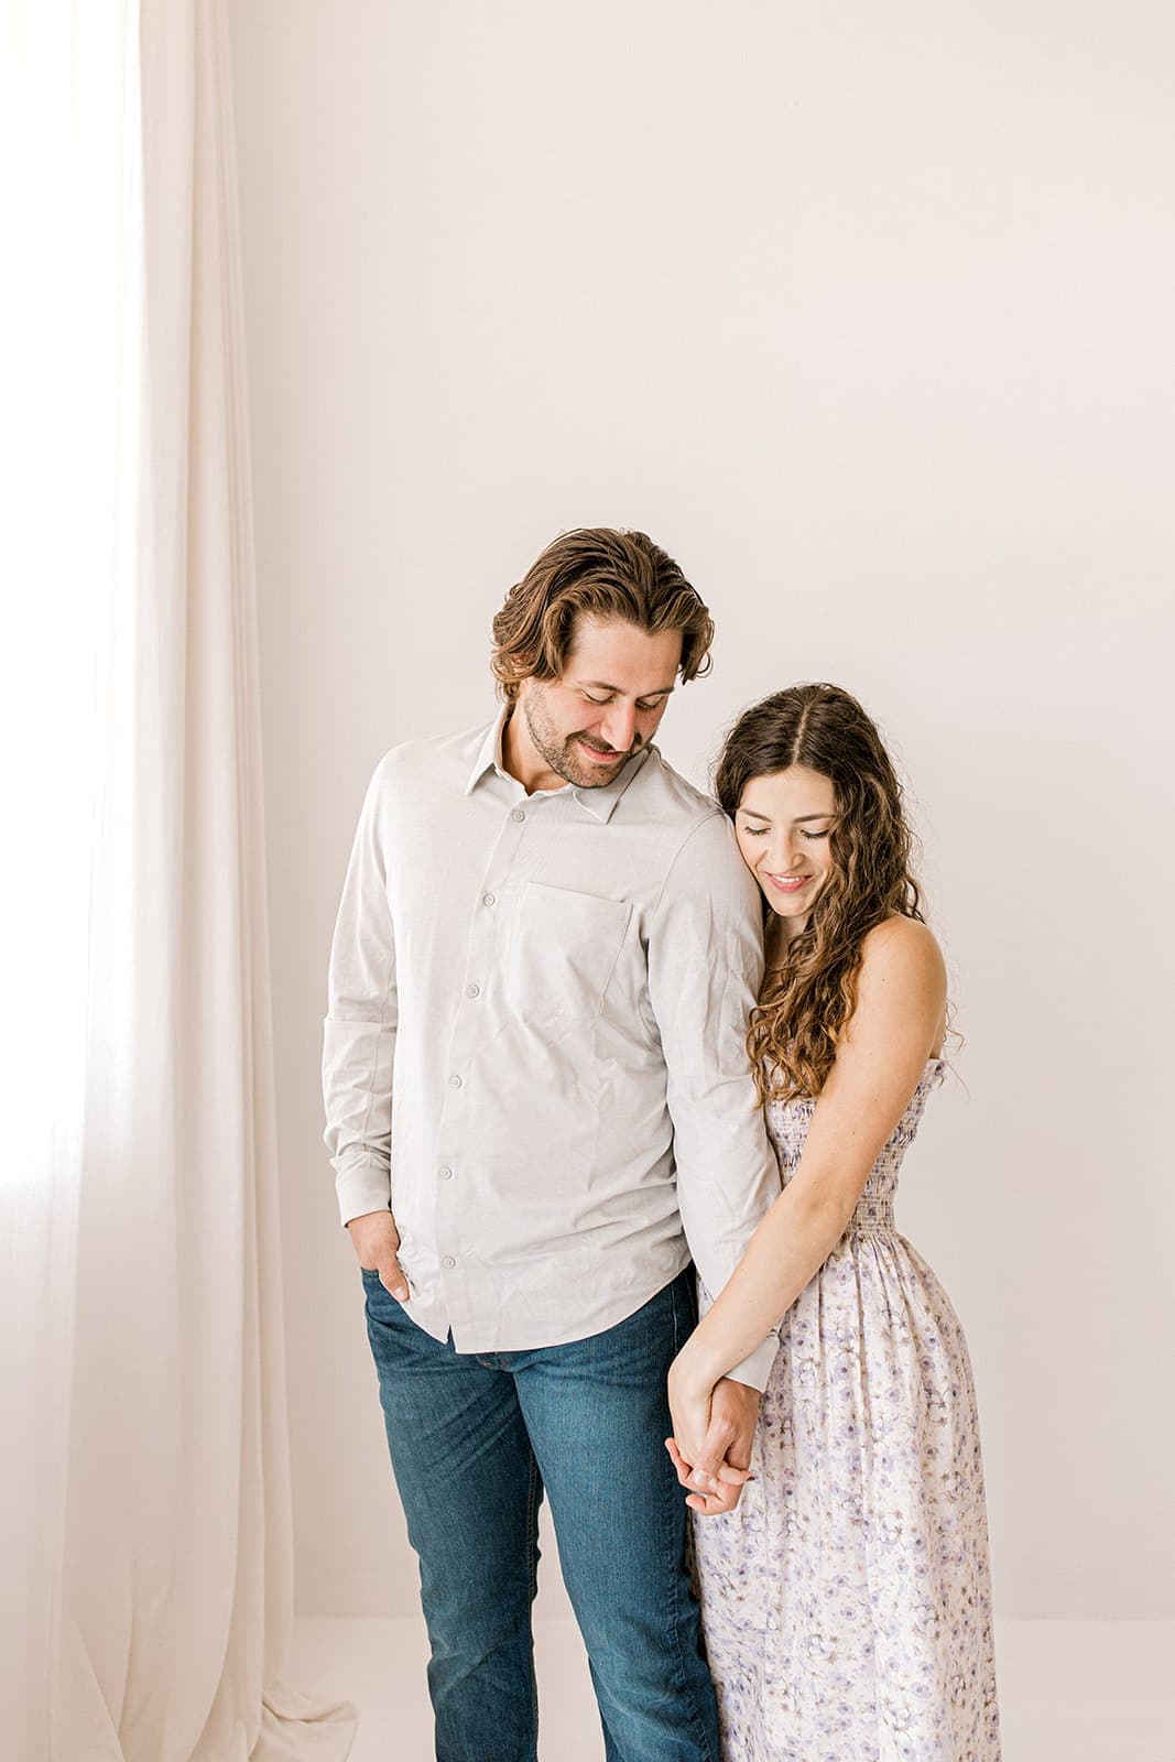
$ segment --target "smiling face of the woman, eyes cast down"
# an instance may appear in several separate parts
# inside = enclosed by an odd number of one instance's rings
[[[837,795],[828,777],[791,765],[786,772],[752,777],[735,812],[742,858],[763,888],[773,913],[800,930],[831,874],[830,833],[837,825]]]

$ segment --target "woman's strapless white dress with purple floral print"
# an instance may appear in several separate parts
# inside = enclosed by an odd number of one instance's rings
[[[999,1762],[971,1362],[946,1292],[893,1228],[942,1071],[927,1066],[784,1318],[756,1478],[729,1515],[694,1519],[724,1762]],[[768,1107],[784,1184],[814,1105]]]

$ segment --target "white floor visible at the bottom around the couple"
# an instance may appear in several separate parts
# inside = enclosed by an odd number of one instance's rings
[[[536,1623],[543,1762],[601,1762],[580,1637]],[[1004,1762],[1175,1762],[1175,1621],[1002,1621]],[[428,1762],[428,1644],[419,1621],[296,1623],[289,1681],[351,1700],[351,1762]]]

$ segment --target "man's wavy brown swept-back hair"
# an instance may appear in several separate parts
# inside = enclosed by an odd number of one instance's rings
[[[514,703],[525,678],[560,678],[587,611],[641,631],[682,633],[680,675],[710,671],[713,620],[682,569],[645,532],[580,527],[548,544],[493,620],[493,677]]]

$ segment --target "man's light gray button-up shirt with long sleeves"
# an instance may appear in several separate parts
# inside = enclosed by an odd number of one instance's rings
[[[647,747],[527,795],[502,728],[395,747],[363,803],[322,1085],[344,1223],[391,1205],[407,1313],[458,1351],[585,1339],[779,1195],[747,1062],[759,893]],[[761,1388],[775,1339],[738,1369]]]

